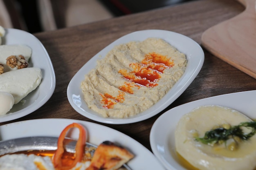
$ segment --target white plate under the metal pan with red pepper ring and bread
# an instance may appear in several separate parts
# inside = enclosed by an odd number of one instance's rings
[[[48,136],[58,137],[61,131],[72,123],[82,124],[87,130],[87,141],[91,144],[99,145],[103,141],[109,140],[120,144],[132,152],[135,157],[127,163],[132,170],[165,170],[155,155],[127,135],[102,126],[99,124],[79,121],[73,119],[35,119],[19,121],[0,126],[0,140],[16,139],[20,137]],[[68,133],[67,137],[77,139],[79,131],[74,129]]]

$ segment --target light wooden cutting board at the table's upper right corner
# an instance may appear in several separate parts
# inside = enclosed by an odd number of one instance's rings
[[[245,11],[207,29],[202,34],[202,46],[256,78],[256,1],[238,1]]]

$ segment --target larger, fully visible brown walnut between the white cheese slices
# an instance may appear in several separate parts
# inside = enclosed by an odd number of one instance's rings
[[[7,57],[6,59],[6,65],[11,67],[11,68],[26,68],[29,63],[27,62],[27,60],[25,60],[25,57],[23,55],[11,55],[9,57]]]

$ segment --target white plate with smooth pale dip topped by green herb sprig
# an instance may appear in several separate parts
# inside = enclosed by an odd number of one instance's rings
[[[254,170],[256,163],[247,161],[256,157],[255,95],[256,91],[230,93],[166,111],[150,130],[154,155],[167,170]],[[216,140],[220,134],[232,135]]]

